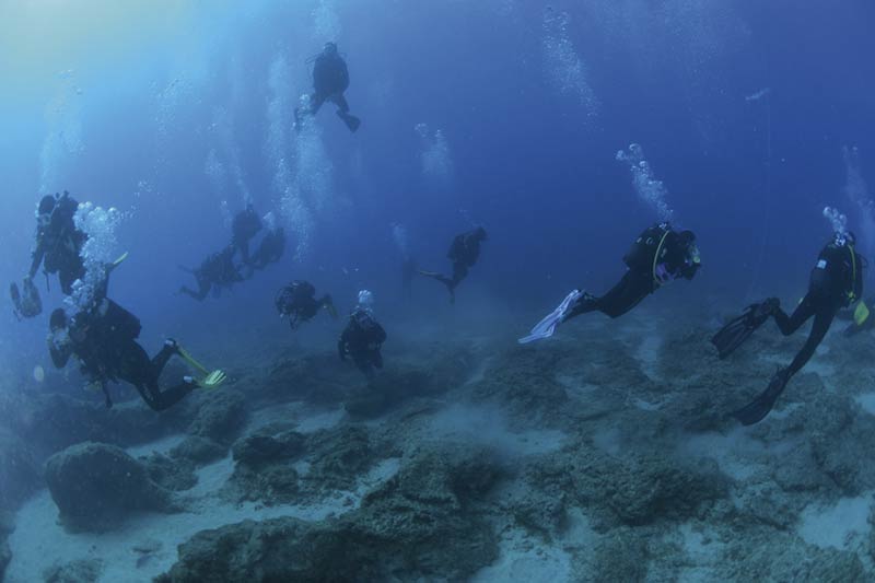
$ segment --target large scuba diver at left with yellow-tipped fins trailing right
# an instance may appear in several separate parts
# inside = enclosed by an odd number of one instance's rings
[[[161,351],[150,360],[136,341],[140,335],[140,320],[107,298],[103,298],[95,310],[80,312],[72,318],[63,310],[56,310],[49,318],[49,327],[51,362],[62,369],[70,357],[75,357],[82,373],[92,384],[100,385],[107,408],[113,406],[106,387],[110,381],[125,381],[133,385],[149,407],[163,411],[195,388],[213,388],[225,380],[224,372],[208,371],[172,339],[166,340]],[[162,390],[159,377],[173,355],[184,359],[203,377],[184,376],[179,384]]]

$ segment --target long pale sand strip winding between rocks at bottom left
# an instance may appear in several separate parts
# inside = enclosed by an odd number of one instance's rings
[[[254,502],[229,504],[218,491],[231,476],[234,464],[226,457],[198,471],[198,485],[180,494],[188,510],[178,514],[144,513],[131,517],[120,529],[105,534],[68,534],[58,524],[58,509],[48,490],[28,501],[16,515],[15,530],[9,538],[12,562],[7,583],[31,583],[55,564],[80,559],[104,563],[98,582],[151,581],[177,560],[177,546],[196,533],[234,524],[247,518],[262,521],[294,516],[319,521],[359,506],[363,495],[394,476],[397,458],[385,459],[362,476],[354,491],[336,492],[311,505],[262,506]],[[137,548],[155,549],[153,552]]]

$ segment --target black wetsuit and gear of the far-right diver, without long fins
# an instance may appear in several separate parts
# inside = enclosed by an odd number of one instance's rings
[[[772,312],[774,322],[784,336],[795,333],[808,318],[814,317],[812,333],[790,363],[788,378],[812,358],[839,310],[851,305],[862,293],[863,258],[848,245],[830,243],[824,247],[812,270],[808,293],[793,311],[793,315],[788,316],[780,307]]]

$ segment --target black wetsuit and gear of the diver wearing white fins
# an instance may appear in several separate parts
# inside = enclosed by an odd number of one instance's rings
[[[651,226],[641,233],[623,257],[629,269],[622,279],[600,298],[581,296],[563,319],[595,311],[616,318],[672,279],[692,279],[697,268],[689,261],[688,244],[689,240],[673,231],[667,223]]]

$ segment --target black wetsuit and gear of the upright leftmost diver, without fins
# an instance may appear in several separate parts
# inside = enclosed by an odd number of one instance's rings
[[[33,279],[42,264],[46,273],[58,273],[61,291],[70,295],[73,282],[85,275],[85,266],[79,254],[88,235],[73,223],[79,202],[67,191],[56,197],[48,224],[37,228],[36,247],[27,275]]]

